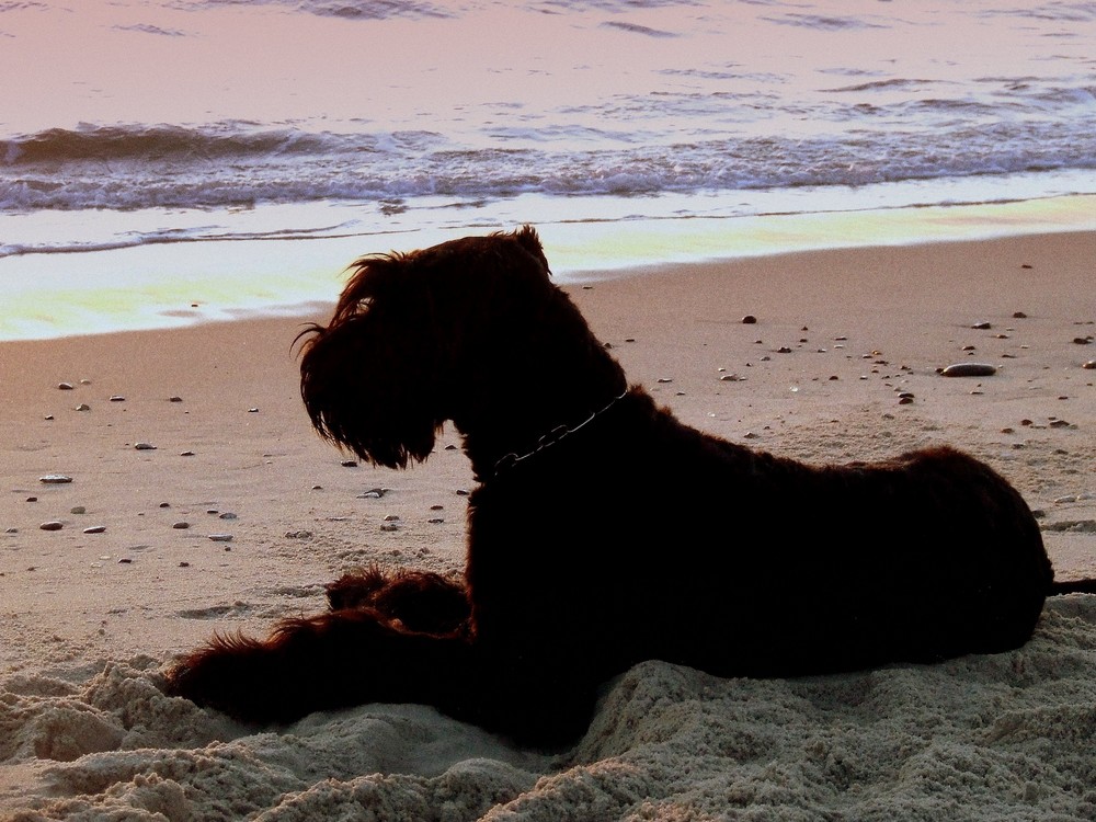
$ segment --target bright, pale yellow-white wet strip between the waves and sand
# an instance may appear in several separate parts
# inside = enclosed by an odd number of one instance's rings
[[[610,219],[561,218],[559,204],[523,203],[517,197],[486,221],[469,220],[466,228],[421,226],[387,233],[288,239],[282,224],[272,222],[273,233],[266,239],[231,239],[226,229],[224,237],[205,240],[0,258],[0,289],[9,308],[0,318],[0,341],[294,316],[333,300],[346,266],[362,254],[510,230],[523,220],[537,226],[561,284],[823,250],[961,244],[1096,230],[1096,195],[760,216],[719,215],[712,206],[716,216],[688,218],[666,210],[664,203],[654,207],[650,201],[614,201]],[[636,214],[628,216],[631,212],[620,210],[624,206]],[[317,208],[322,212],[315,216],[317,225],[349,216],[338,217],[341,209],[333,203]],[[305,218],[296,215],[298,220]],[[251,224],[249,228],[252,235],[263,233]]]

